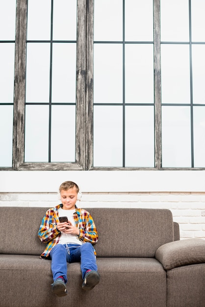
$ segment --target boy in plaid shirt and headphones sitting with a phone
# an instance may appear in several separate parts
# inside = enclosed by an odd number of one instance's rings
[[[76,206],[79,187],[65,181],[59,187],[62,204],[50,208],[40,225],[38,237],[47,243],[41,258],[51,259],[52,292],[59,297],[67,295],[67,262],[81,262],[82,289],[91,290],[100,281],[96,252],[92,244],[98,241],[98,232],[92,216]],[[66,216],[67,222],[59,222]]]

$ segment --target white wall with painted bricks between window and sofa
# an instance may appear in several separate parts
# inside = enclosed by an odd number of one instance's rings
[[[82,207],[168,208],[181,238],[205,238],[205,171],[1,171],[0,206],[57,205],[65,180]]]

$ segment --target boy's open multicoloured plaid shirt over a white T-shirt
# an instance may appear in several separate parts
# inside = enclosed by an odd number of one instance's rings
[[[47,210],[41,222],[40,228],[38,230],[38,237],[42,242],[47,243],[45,251],[41,254],[41,258],[48,257],[53,246],[55,246],[59,241],[60,231],[57,229],[56,223],[59,222],[58,209],[61,206],[62,204]],[[76,206],[74,220],[76,223],[76,227],[78,227],[79,223],[79,240],[81,240],[83,243],[97,243],[98,232],[96,230],[95,223],[90,213],[84,209],[78,209]],[[96,251],[94,251],[94,253],[96,255]]]

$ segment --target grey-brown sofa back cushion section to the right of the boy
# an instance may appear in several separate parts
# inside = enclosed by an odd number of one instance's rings
[[[99,239],[98,257],[154,257],[174,241],[173,217],[167,209],[89,208]]]

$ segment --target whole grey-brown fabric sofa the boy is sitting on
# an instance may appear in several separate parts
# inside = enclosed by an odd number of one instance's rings
[[[37,237],[47,208],[0,207],[0,307],[203,307],[205,240],[179,240],[167,209],[89,208],[100,283],[81,289],[68,264],[68,295],[51,292],[51,261]]]

